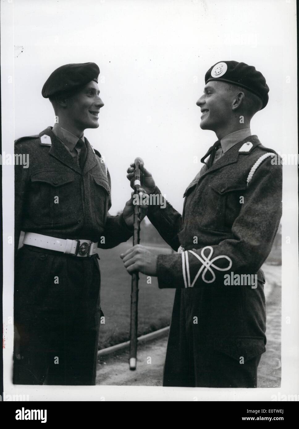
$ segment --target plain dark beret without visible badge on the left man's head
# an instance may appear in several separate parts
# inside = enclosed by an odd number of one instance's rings
[[[100,69],[95,63],[65,64],[58,67],[46,80],[42,96],[51,97],[61,91],[75,89],[94,80],[98,83]]]

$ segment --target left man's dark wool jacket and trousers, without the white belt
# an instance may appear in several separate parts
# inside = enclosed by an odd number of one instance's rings
[[[14,321],[21,355],[15,384],[95,384],[102,314],[97,255],[28,245],[17,251],[21,230],[100,248],[131,237],[122,215],[108,214],[110,175],[86,138],[85,145],[81,170],[52,127],[15,142],[16,154],[29,155],[28,168],[15,166]]]

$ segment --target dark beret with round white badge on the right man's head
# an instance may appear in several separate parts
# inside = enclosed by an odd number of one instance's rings
[[[229,82],[241,86],[262,100],[262,109],[267,105],[269,87],[262,73],[255,67],[237,61],[220,61],[207,71],[204,77],[205,83],[211,80]]]

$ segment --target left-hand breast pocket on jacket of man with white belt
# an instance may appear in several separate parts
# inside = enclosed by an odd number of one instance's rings
[[[31,177],[30,215],[38,224],[74,224],[82,219],[80,178],[73,172],[40,171]]]

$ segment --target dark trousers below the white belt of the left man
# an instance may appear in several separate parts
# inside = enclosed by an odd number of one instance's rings
[[[19,249],[14,319],[21,359],[14,358],[14,384],[95,384],[100,284],[96,257]]]

